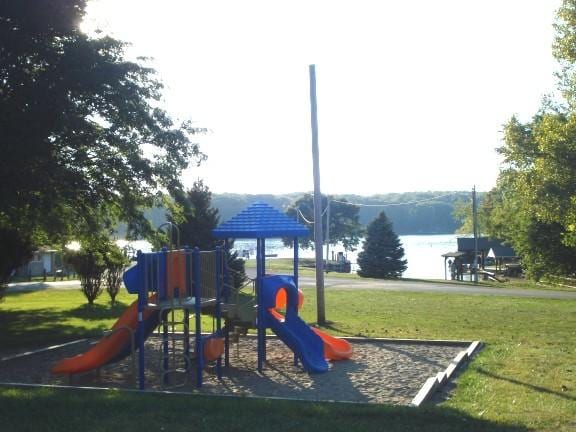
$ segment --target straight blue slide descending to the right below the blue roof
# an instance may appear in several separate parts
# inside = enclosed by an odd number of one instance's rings
[[[266,318],[272,331],[298,356],[307,372],[328,371],[324,342],[298,315],[288,311],[283,317],[274,309],[269,309]]]

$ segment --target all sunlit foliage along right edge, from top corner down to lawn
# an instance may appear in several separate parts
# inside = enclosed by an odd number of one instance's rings
[[[576,0],[564,0],[555,28],[564,101],[505,125],[504,166],[480,210],[488,234],[510,243],[536,279],[576,274]]]

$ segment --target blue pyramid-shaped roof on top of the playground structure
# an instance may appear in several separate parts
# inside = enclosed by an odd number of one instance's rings
[[[309,234],[306,226],[274,207],[256,202],[236,216],[212,230],[216,238],[279,238],[304,237]]]

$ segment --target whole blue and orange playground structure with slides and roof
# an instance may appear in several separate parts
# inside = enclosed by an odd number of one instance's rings
[[[54,374],[79,374],[98,369],[138,351],[138,387],[146,388],[145,341],[156,327],[162,342],[162,383],[174,385],[176,377],[185,384],[195,370],[196,385],[208,362],[215,362],[222,377],[222,360],[229,365],[231,331],[257,329],[257,368],[266,361],[266,330],[274,333],[294,352],[294,364],[309,373],[328,370],[328,360],[348,359],[350,344],[308,326],[299,316],[303,295],[298,290],[298,236],[308,229],[274,208],[255,203],[213,231],[217,238],[256,238],[257,277],[255,298],[241,304],[229,284],[227,252],[182,250],[142,253],[137,264],[124,274],[129,293],[138,299],[122,314],[112,332],[86,353],[63,359]],[[265,238],[294,238],[294,274],[265,273]],[[285,309],[284,315],[280,309]],[[213,316],[210,334],[202,331],[202,314]],[[191,325],[191,317],[194,318]],[[223,323],[224,322],[224,323]],[[194,347],[190,346],[191,328]],[[242,331],[242,330],[240,330]],[[136,366],[134,367],[136,369]]]

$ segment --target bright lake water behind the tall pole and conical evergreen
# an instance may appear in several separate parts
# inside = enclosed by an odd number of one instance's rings
[[[417,279],[444,279],[444,258],[442,254],[457,250],[455,234],[435,234],[435,235],[407,235],[399,236],[404,248],[404,256],[408,260],[408,268],[403,277]],[[236,250],[246,250],[254,257],[256,251],[255,240],[236,240],[234,242]],[[352,269],[356,268],[358,252],[362,250],[361,245],[358,251],[345,253],[352,263]],[[331,247],[332,252],[344,252],[341,246]],[[266,254],[277,255],[276,258],[292,258],[294,252],[285,247],[280,239],[266,240]],[[324,252],[324,256],[326,252]],[[301,258],[315,258],[311,249],[300,249],[298,256]],[[274,259],[274,258],[268,258]]]

